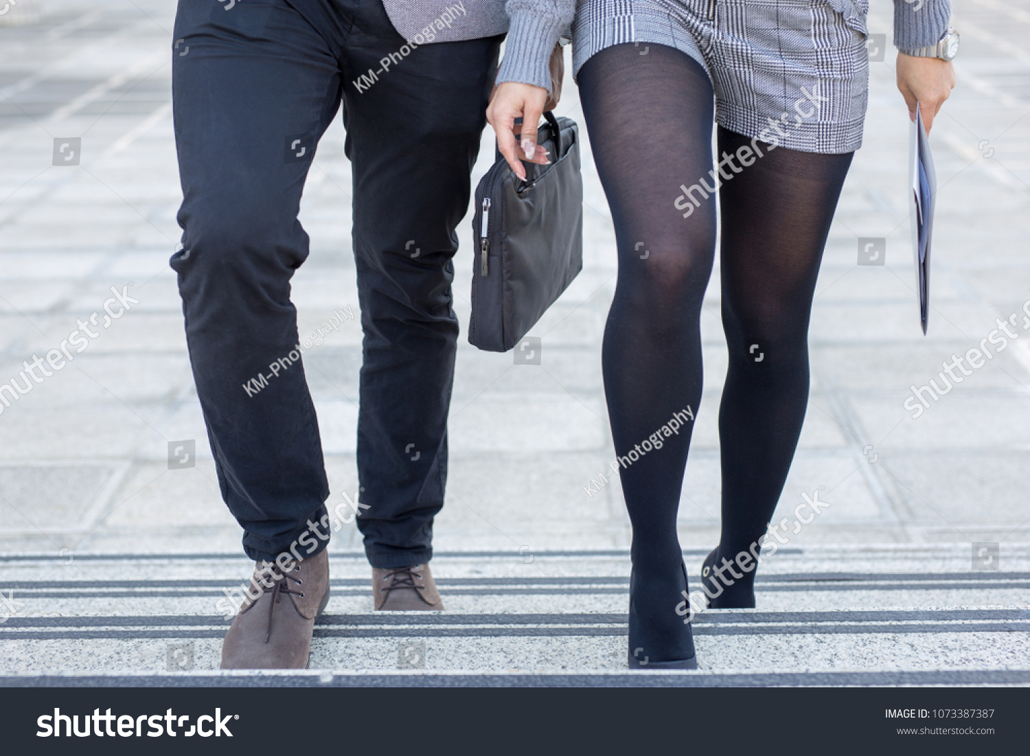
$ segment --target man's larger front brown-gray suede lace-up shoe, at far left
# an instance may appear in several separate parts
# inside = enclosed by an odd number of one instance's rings
[[[304,669],[315,618],[328,603],[328,551],[285,573],[255,562],[250,593],[221,644],[221,668]]]

